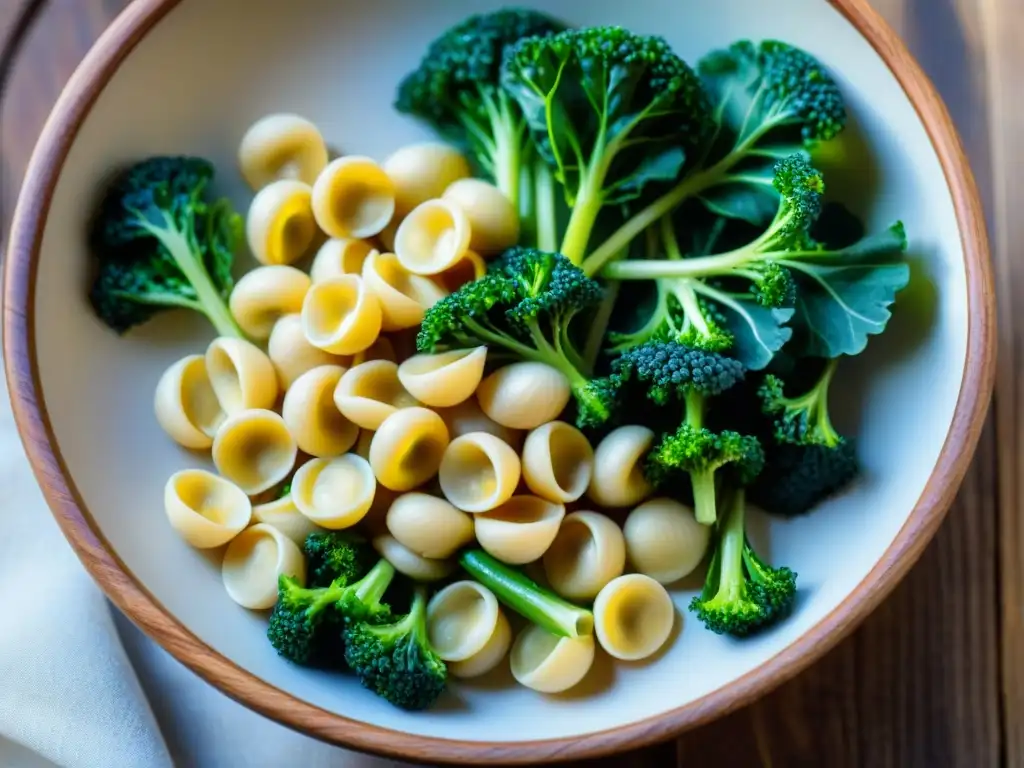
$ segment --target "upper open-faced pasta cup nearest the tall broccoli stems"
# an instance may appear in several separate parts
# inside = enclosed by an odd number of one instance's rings
[[[394,253],[414,274],[438,274],[466,255],[469,238],[469,219],[462,208],[428,200],[401,220],[394,233]]]

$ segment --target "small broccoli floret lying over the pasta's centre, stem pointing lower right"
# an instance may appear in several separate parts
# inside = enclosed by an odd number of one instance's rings
[[[544,362],[569,382],[581,426],[605,423],[615,389],[593,380],[570,338],[581,312],[600,303],[602,289],[555,253],[514,248],[427,310],[417,336],[421,352],[485,344],[515,357]]]

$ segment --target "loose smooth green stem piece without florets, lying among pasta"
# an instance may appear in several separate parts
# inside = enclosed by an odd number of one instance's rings
[[[459,556],[459,563],[502,603],[548,632],[560,637],[593,634],[593,613],[563,600],[483,550],[464,551]]]

